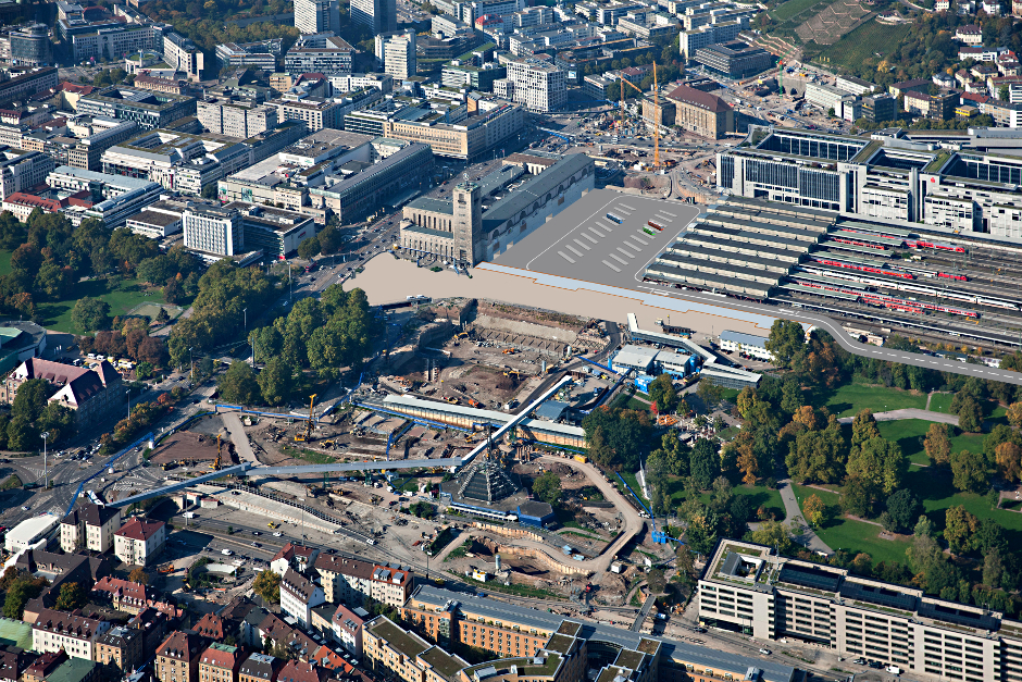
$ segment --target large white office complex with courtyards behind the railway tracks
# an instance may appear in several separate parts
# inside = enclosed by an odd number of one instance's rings
[[[1022,238],[1022,158],[946,150],[901,137],[873,139],[753,127],[745,147],[718,154],[718,189],[824,211]]]

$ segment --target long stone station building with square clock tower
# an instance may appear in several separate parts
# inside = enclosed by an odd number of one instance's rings
[[[453,201],[416,199],[404,207],[401,247],[462,265],[491,260],[593,189],[595,172],[591,159],[570,154],[494,202],[485,213],[476,183],[459,183]]]

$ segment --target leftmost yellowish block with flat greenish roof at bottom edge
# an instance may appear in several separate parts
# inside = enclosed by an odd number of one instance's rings
[[[402,682],[456,682],[458,671],[469,666],[414,632],[402,630],[386,616],[366,623],[363,637],[365,660],[372,669]]]

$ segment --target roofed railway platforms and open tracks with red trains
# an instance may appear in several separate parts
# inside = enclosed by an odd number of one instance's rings
[[[688,225],[644,280],[1008,348],[1022,345],[1020,262],[1022,246],[983,233],[732,196]]]

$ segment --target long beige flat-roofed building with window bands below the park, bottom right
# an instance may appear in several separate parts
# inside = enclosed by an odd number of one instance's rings
[[[1022,623],[921,590],[723,541],[699,581],[699,620],[760,640],[801,640],[965,682],[1022,680]]]

